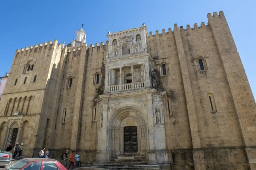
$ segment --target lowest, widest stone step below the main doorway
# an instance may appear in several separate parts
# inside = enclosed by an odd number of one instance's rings
[[[94,163],[93,167],[108,168],[110,170],[160,170],[159,164],[105,164]]]

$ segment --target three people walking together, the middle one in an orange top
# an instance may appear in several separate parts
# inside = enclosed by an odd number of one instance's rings
[[[79,152],[76,153],[75,155],[75,151],[72,151],[72,153],[70,154],[70,156],[68,156],[68,150],[66,150],[65,153],[63,153],[61,155],[61,159],[63,160],[64,162],[64,166],[67,167],[67,164],[68,164],[68,161],[70,162],[69,166],[68,166],[68,170],[70,169],[71,165],[72,165],[72,168],[74,169],[74,167],[79,167],[80,165],[80,155],[79,155]],[[76,166],[75,166],[75,163],[76,163]]]

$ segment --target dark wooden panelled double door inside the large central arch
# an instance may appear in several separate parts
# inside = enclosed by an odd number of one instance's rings
[[[137,127],[124,127],[124,152],[131,153],[138,151]]]

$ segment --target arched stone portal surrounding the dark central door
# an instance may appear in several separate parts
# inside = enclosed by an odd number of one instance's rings
[[[145,153],[148,150],[148,120],[143,111],[127,106],[117,109],[109,120],[111,155]]]

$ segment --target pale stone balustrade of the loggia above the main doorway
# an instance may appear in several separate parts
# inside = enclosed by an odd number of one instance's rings
[[[144,88],[144,82],[135,82],[135,83],[127,83],[122,85],[111,85],[110,91],[126,91],[126,90],[133,90]]]

